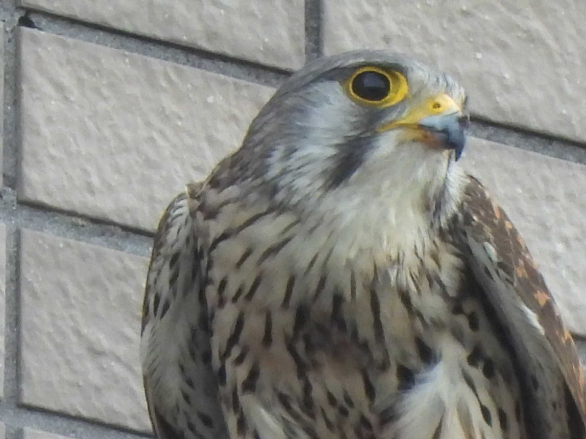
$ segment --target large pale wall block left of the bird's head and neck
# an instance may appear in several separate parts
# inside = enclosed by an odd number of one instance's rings
[[[268,87],[21,30],[20,200],[154,229],[236,149]]]

